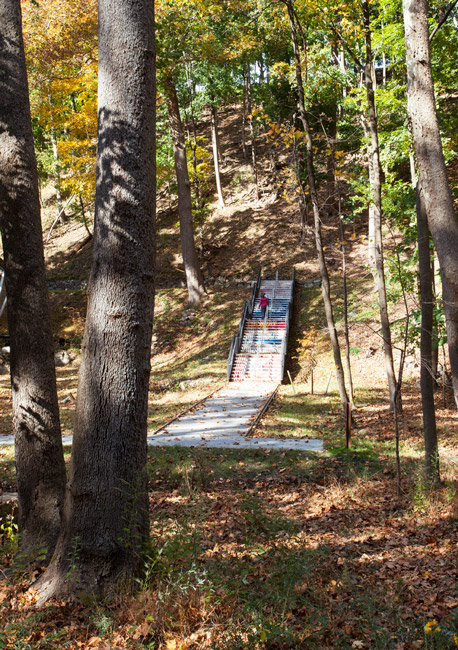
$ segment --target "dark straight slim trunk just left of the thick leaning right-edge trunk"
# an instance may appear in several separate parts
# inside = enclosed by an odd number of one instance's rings
[[[439,450],[437,447],[436,410],[434,405],[435,377],[432,368],[433,273],[429,253],[428,221],[420,184],[417,185],[417,241],[421,296],[420,386],[423,410],[423,437],[425,441],[425,466],[428,481],[438,483],[440,480]]]

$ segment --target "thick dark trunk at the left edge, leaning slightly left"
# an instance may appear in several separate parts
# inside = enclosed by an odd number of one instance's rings
[[[65,466],[19,0],[0,3],[0,225],[6,270],[21,551],[51,554]]]

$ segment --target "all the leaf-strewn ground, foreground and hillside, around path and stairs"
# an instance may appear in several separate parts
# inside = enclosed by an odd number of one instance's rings
[[[364,219],[357,220],[346,235],[355,425],[352,448],[345,449],[321,292],[304,286],[318,278],[313,237],[302,233],[297,206],[278,198],[281,172],[274,177],[267,162],[255,200],[250,168],[238,153],[236,119],[228,111],[222,123],[227,207],[211,205],[197,235],[208,293],[193,312],[186,309],[176,209],[165,193],[159,201],[148,427],[155,430],[225,383],[231,337],[259,264],[265,276],[278,269],[281,278],[291,277],[294,266],[287,362],[294,386],[283,383],[255,435],[322,438],[325,451],[150,449],[145,572],[135,596],[110,603],[35,608],[28,587],[41,569],[30,572],[19,562],[13,573],[5,571],[17,536],[4,518],[0,650],[458,646],[458,431],[450,395],[437,393],[443,482],[430,493],[423,478],[418,354],[409,352],[398,496],[376,296],[365,266]],[[209,137],[207,124],[202,134]],[[52,207],[50,199],[45,236]],[[335,218],[324,219],[323,231],[342,331]],[[71,359],[57,368],[64,433],[72,432],[77,393],[91,254],[86,236],[81,224],[69,221],[56,226],[46,244],[56,346]],[[390,233],[385,243],[389,249]],[[409,305],[415,306],[413,296]],[[397,298],[390,315],[402,325]],[[4,374],[0,438],[10,432]],[[11,448],[0,447],[0,481],[5,492],[15,489]]]

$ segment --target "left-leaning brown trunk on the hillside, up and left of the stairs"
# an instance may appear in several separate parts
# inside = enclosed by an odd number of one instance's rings
[[[167,108],[169,111],[170,130],[173,140],[175,172],[178,183],[178,213],[180,215],[180,238],[183,264],[188,287],[188,305],[198,305],[204,294],[204,283],[197,258],[192,228],[192,198],[189,182],[188,161],[186,159],[186,142],[180,117],[178,97],[173,79],[165,81]]]

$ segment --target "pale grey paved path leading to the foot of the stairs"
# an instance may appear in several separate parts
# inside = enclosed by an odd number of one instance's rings
[[[148,445],[323,451],[322,440],[245,438],[275,388],[276,384],[270,383],[230,383],[157,433],[150,434]],[[63,436],[62,441],[70,445],[72,436]],[[0,444],[13,443],[13,436],[0,437]]]

